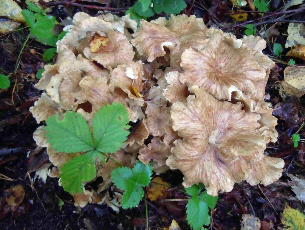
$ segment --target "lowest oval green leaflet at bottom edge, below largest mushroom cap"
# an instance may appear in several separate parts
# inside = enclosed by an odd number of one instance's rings
[[[193,230],[199,230],[209,218],[209,207],[205,202],[193,196],[186,205],[186,220]]]

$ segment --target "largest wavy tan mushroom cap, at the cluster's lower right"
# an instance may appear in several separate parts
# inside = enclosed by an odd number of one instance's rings
[[[284,161],[272,158],[268,168],[262,167],[266,141],[257,131],[260,115],[243,111],[241,103],[218,101],[198,86],[191,91],[196,96],[172,105],[173,129],[184,139],[174,141],[173,155],[166,162],[184,174],[183,185],[202,182],[207,193],[216,196],[218,190],[231,191],[235,182],[250,180],[248,168],[260,168],[260,180],[273,182],[279,174],[271,177],[270,170],[281,171]],[[253,155],[259,157],[249,157]],[[245,162],[235,163],[240,159]]]

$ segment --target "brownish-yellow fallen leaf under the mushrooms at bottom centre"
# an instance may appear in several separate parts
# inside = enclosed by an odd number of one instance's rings
[[[164,182],[160,177],[152,179],[152,183],[146,187],[147,196],[151,201],[160,201],[167,196],[166,189],[169,188],[169,184]]]

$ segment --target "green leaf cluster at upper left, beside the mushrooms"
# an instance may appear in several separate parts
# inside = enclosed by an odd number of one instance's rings
[[[40,9],[33,2],[26,1],[26,3],[27,9],[22,10],[21,13],[30,27],[31,34],[42,44],[53,47],[47,49],[43,54],[43,59],[49,61],[56,53],[56,42],[62,39],[66,32],[63,31],[58,35],[54,30],[57,23],[56,18],[46,15],[46,11]]]

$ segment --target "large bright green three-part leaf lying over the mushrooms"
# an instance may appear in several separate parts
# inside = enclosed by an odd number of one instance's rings
[[[96,177],[95,157],[105,162],[105,153],[115,153],[123,146],[129,134],[128,122],[128,113],[122,103],[108,104],[95,113],[93,135],[86,120],[74,111],[66,111],[62,119],[54,115],[46,120],[45,136],[57,153],[85,152],[60,168],[60,182],[65,191],[83,192],[83,182]]]

